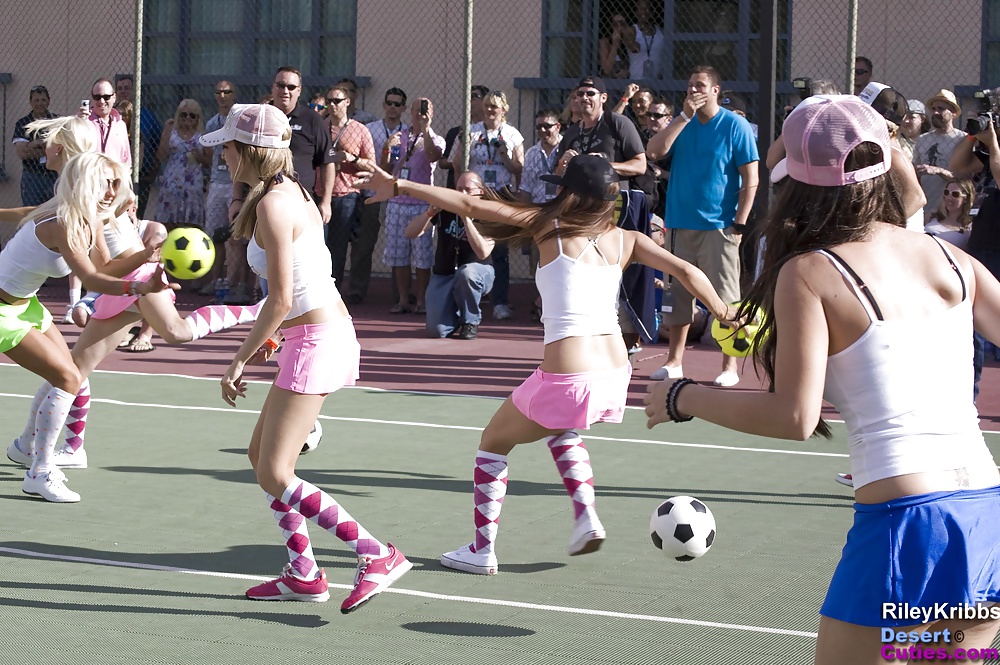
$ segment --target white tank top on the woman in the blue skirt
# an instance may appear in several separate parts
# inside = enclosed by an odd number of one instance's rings
[[[935,239],[936,241],[936,239]],[[847,424],[854,487],[909,473],[967,468],[972,487],[986,487],[993,457],[972,401],[972,303],[965,278],[962,301],[926,325],[885,321],[868,287],[832,252],[820,251],[852,286],[871,325],[827,360],[824,398]],[[927,330],[934,331],[928,359]]]

